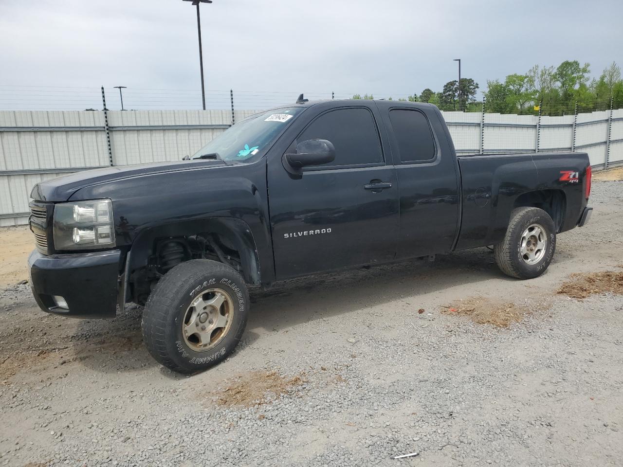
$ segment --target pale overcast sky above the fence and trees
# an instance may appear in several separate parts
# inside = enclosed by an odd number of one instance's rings
[[[456,79],[455,58],[480,90],[534,64],[623,64],[621,0],[214,0],[201,13],[209,106],[230,88],[258,107],[300,92],[405,97]],[[137,107],[201,105],[190,2],[0,0],[0,44],[0,108],[16,96],[64,105],[52,97],[100,85],[115,105],[117,85]]]

